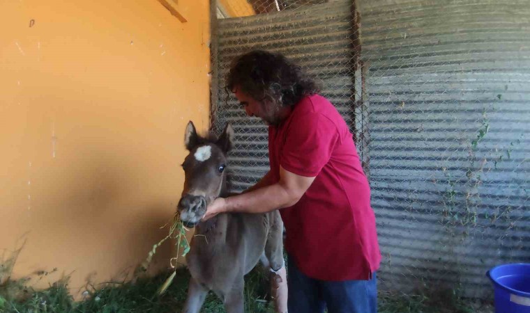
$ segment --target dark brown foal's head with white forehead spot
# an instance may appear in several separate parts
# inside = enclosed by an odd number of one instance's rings
[[[186,227],[194,227],[206,214],[206,207],[218,198],[225,182],[226,154],[232,147],[234,130],[227,124],[218,138],[203,138],[197,135],[192,122],[188,123],[184,135],[186,149],[184,190],[179,201],[181,220]]]

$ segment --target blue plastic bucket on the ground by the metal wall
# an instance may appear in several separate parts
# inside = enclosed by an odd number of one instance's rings
[[[495,288],[495,312],[530,313],[530,264],[503,264],[487,272]]]

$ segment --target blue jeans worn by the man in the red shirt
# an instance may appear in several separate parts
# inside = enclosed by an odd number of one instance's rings
[[[294,262],[287,262],[289,313],[376,313],[377,278],[329,282],[315,280],[298,271]]]

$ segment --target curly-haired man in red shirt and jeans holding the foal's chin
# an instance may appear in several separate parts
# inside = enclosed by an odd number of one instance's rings
[[[247,115],[268,124],[271,170],[245,193],[215,200],[204,219],[280,209],[289,312],[377,312],[381,254],[375,217],[345,120],[317,94],[312,79],[280,54],[240,56],[227,88]],[[285,267],[278,275],[285,281]]]

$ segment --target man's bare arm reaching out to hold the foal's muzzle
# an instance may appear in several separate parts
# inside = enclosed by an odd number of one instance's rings
[[[229,198],[218,198],[206,209],[203,219],[207,220],[222,212],[265,213],[291,207],[302,198],[313,181],[315,177],[296,175],[280,167],[278,183]]]

